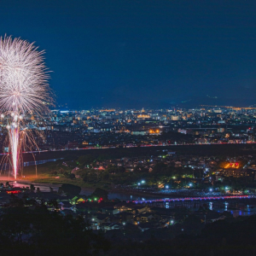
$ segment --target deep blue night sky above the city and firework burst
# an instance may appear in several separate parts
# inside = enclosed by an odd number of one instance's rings
[[[256,103],[255,0],[1,0],[5,33],[71,108]]]

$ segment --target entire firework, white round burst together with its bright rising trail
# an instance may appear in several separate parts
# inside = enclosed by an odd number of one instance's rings
[[[9,131],[9,148],[15,179],[24,147],[27,114],[49,111],[51,94],[44,51],[20,38],[0,38],[0,109]],[[32,141],[30,138],[29,141]]]

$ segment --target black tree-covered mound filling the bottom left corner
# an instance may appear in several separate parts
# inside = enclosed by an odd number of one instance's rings
[[[49,212],[26,197],[13,196],[0,217],[1,255],[99,255],[109,248],[84,218]]]

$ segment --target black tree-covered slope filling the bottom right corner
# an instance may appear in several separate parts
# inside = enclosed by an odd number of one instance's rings
[[[109,256],[241,256],[256,253],[256,216],[232,222],[219,220],[207,224],[200,235],[180,235],[174,239],[152,236],[142,242],[116,242]],[[118,254],[119,253],[119,254]]]

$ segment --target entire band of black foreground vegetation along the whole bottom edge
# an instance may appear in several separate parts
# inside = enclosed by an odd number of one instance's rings
[[[73,218],[57,211],[49,212],[44,202],[38,204],[26,196],[23,199],[13,196],[2,208],[0,252],[1,255],[108,256],[236,256],[256,253],[256,216],[229,217],[207,225],[190,217],[184,224],[187,228],[174,238],[162,237],[155,231],[145,241],[109,236],[111,231],[103,234],[90,230],[82,216]],[[179,228],[177,225],[177,230]]]

